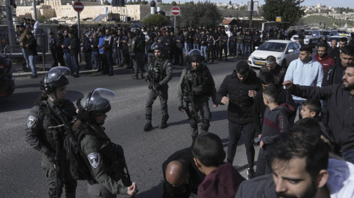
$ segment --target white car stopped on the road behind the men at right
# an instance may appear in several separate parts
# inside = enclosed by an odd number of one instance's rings
[[[269,40],[259,47],[255,47],[251,56],[248,58],[248,65],[261,68],[265,65],[268,56],[274,56],[277,64],[288,67],[290,62],[299,58],[301,45],[290,40]]]

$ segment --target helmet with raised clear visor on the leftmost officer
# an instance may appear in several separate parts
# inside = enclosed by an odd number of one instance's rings
[[[70,74],[71,71],[67,67],[54,67],[50,69],[46,76],[40,81],[40,89],[48,94],[52,92],[54,88],[65,86],[69,84],[69,80],[65,75],[70,76]]]

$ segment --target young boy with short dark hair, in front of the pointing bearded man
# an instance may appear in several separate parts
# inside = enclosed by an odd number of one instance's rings
[[[333,145],[333,135],[328,127],[320,121],[321,102],[316,98],[309,98],[302,103],[301,116],[302,118],[314,118],[321,126],[321,139],[329,145]]]

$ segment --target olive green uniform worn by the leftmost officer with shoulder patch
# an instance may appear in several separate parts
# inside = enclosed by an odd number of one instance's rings
[[[27,127],[25,129],[26,141],[30,146],[39,151],[42,154],[41,166],[43,172],[48,178],[49,184],[49,197],[54,197],[55,192],[55,183],[56,183],[56,174],[54,169],[54,163],[48,160],[48,155],[55,153],[55,138],[53,137],[56,130],[59,134],[60,147],[62,148],[60,152],[60,175],[61,175],[61,188],[65,185],[65,197],[75,197],[75,190],[77,186],[76,180],[70,174],[69,162],[66,160],[66,152],[63,149],[63,140],[65,138],[65,129],[63,127],[50,129],[50,126],[58,126],[62,123],[58,123],[58,120],[55,120],[52,109],[59,110],[64,113],[68,120],[72,120],[72,117],[76,115],[75,106],[68,100],[54,104],[49,98],[47,101],[42,101],[39,104],[35,105],[28,116]],[[60,191],[61,194],[61,191]]]

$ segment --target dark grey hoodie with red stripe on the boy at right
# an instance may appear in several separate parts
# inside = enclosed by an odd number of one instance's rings
[[[283,133],[289,127],[289,118],[293,115],[294,108],[283,103],[270,111],[269,107],[265,109],[262,136],[260,140],[264,145],[273,142],[273,139],[280,133]]]

